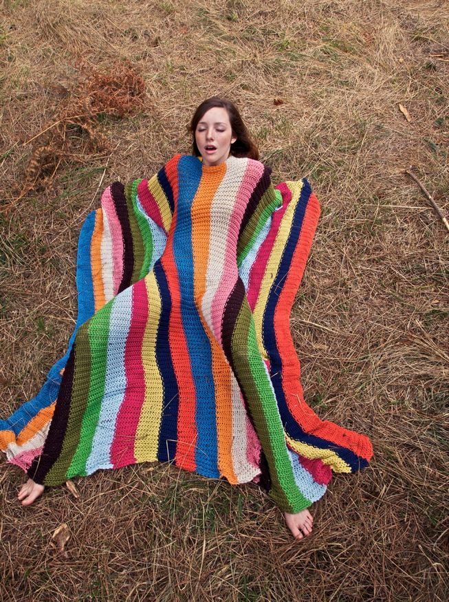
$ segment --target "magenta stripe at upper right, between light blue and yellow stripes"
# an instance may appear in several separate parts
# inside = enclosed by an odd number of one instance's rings
[[[276,186],[276,188],[278,189],[278,191],[281,191],[283,203],[282,206],[278,208],[278,211],[274,211],[274,213],[272,214],[272,225],[270,226],[270,233],[261,244],[261,248],[259,249],[257,257],[254,260],[254,264],[252,264],[247,291],[248,303],[250,303],[251,311],[254,311],[257,302],[257,297],[259,297],[262,279],[265,275],[265,268],[267,266],[268,259],[270,259],[272,248],[274,246],[274,241],[276,240],[276,236],[278,235],[279,226],[281,226],[281,221],[284,216],[284,213],[285,211],[287,211],[287,206],[292,200],[292,193],[289,191],[289,189],[284,183],[279,184],[278,186]]]

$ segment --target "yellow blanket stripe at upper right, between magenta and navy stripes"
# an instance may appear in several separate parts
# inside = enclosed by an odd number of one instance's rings
[[[279,264],[281,263],[281,258],[285,248],[285,243],[287,242],[289,231],[292,228],[296,204],[298,204],[301,189],[303,188],[302,180],[300,182],[290,182],[289,184],[292,184],[292,186],[289,186],[290,190],[292,191],[292,200],[289,202],[287,211],[285,211],[283,215],[281,226],[279,227],[276,240],[274,241],[273,248],[270,252],[270,258],[267,262],[267,267],[265,268],[265,275],[263,276],[261,282],[259,297],[257,298],[256,306],[254,307],[254,324],[256,326],[257,343],[259,345],[261,354],[263,354],[263,357],[265,358],[267,358],[267,352],[263,346],[262,337],[263,314],[265,313],[265,308],[267,306],[270,289],[272,288],[274,278],[278,272]]]

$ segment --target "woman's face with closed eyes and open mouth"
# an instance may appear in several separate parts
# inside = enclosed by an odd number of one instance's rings
[[[195,130],[195,141],[204,165],[224,163],[235,140],[237,138],[232,134],[228,111],[223,107],[212,107],[206,111]]]

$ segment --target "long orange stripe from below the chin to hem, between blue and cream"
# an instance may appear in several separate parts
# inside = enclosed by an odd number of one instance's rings
[[[222,178],[221,178],[222,179]],[[192,248],[195,266],[195,302],[201,323],[210,341],[212,352],[212,374],[215,386],[215,409],[217,415],[218,465],[220,474],[232,484],[237,476],[232,465],[232,399],[230,366],[226,362],[217,339],[212,334],[201,311],[201,301],[206,292],[206,272],[209,259],[210,241],[210,200],[215,196],[221,180],[203,186],[200,182],[192,204]],[[212,188],[213,185],[213,188]],[[195,212],[197,218],[195,219]]]

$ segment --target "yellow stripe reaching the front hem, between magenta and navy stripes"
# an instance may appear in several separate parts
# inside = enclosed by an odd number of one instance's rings
[[[157,460],[164,387],[156,362],[157,325],[161,314],[161,299],[154,272],[145,277],[148,294],[148,319],[142,342],[145,397],[135,437],[134,455],[137,462]]]

